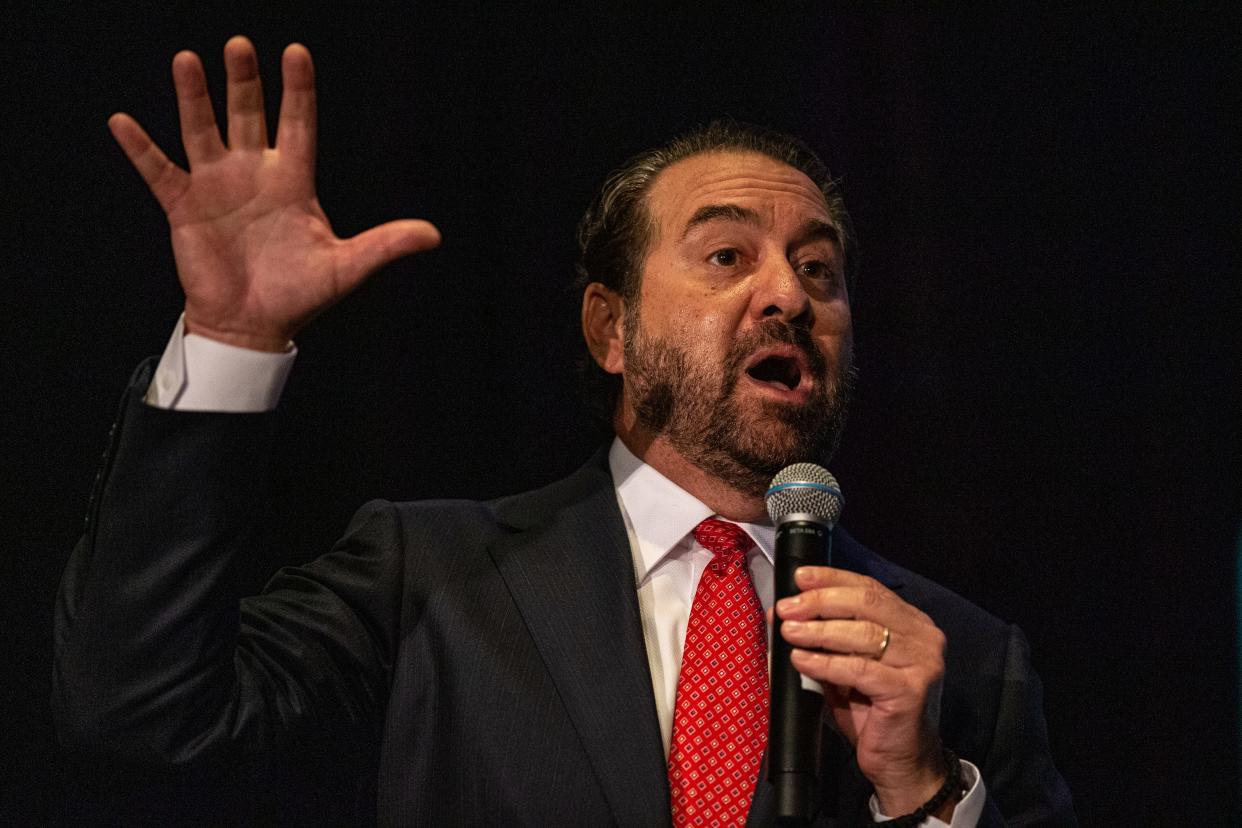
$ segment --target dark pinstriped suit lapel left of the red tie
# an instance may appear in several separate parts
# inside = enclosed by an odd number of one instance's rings
[[[669,822],[668,780],[633,564],[606,459],[502,502],[492,557],[619,824]]]

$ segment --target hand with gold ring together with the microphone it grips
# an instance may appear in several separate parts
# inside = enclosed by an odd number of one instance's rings
[[[883,813],[919,808],[946,778],[936,727],[944,633],[874,578],[831,566],[841,504],[836,479],[811,463],[782,469],[768,494],[776,525],[769,780],[786,824],[814,813],[822,704]],[[801,677],[823,683],[821,705]]]

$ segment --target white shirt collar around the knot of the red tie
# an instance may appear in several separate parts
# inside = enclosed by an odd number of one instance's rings
[[[715,513],[693,494],[638,459],[620,438],[615,438],[609,449],[609,469],[612,472],[612,485],[616,487],[621,510],[633,530],[633,540],[638,547],[635,562],[642,567],[642,571],[635,575],[637,582],[642,583],[647,574],[686,540],[694,526]],[[776,544],[775,528],[769,524],[738,523],[738,525],[750,535],[771,564]]]

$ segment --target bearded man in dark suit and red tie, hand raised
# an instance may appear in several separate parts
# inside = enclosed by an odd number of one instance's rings
[[[309,53],[284,52],[274,148],[253,47],[225,62],[227,144],[199,58],[174,58],[189,173],[111,120],[168,214],[186,303],[130,387],[62,585],[63,737],[171,763],[374,745],[385,823],[769,822],[763,494],[827,462],[852,371],[826,170],[730,125],[631,161],[580,230],[607,452],[492,503],[369,504],[238,603],[229,561],[291,340],[438,233],[337,238]],[[843,534],[838,557],[774,608],[826,688],[817,822],[1072,823],[1021,633]]]

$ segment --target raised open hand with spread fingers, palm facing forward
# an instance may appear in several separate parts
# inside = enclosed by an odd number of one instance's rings
[[[268,144],[253,45],[225,43],[229,140],[221,140],[202,62],[173,58],[189,171],[124,113],[108,125],[168,215],[185,290],[186,330],[257,350],[283,350],[317,314],[371,272],[440,243],[426,221],[391,221],[338,238],[314,191],[315,93],[310,52],[284,50],[284,91]]]

